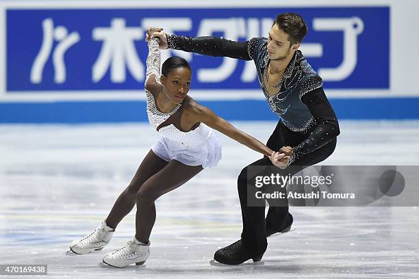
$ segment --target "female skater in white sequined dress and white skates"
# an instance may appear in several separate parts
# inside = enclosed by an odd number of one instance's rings
[[[161,133],[151,147],[134,178],[120,194],[114,207],[101,226],[90,235],[76,239],[70,245],[76,254],[102,250],[109,243],[118,223],[134,204],[136,235],[118,250],[103,256],[103,263],[113,267],[142,265],[149,257],[149,237],[155,222],[155,200],[186,183],[206,167],[214,167],[221,158],[221,146],[213,129],[270,158],[279,168],[289,163],[291,148],[274,152],[262,142],[236,129],[187,96],[192,75],[188,62],[181,57],[170,57],[162,66],[157,38],[150,34],[161,29],[149,29],[147,41],[147,115],[153,129]]]

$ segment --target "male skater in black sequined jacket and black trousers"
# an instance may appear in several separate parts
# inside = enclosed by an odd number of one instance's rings
[[[268,38],[235,42],[224,38],[175,36],[156,32],[160,49],[178,49],[202,55],[232,57],[255,62],[257,77],[270,109],[280,118],[266,146],[272,150],[291,146],[288,165],[280,174],[296,174],[303,168],[329,157],[340,134],[338,120],[322,88],[322,79],[299,51],[307,26],[295,13],[279,14]],[[240,109],[240,108],[238,108]],[[240,240],[221,248],[214,259],[238,265],[250,258],[260,261],[268,243],[266,237],[290,230],[292,215],[288,203],[270,206],[265,219],[264,207],[247,204],[247,172],[252,166],[270,165],[268,157],[243,168],[238,176],[243,230]]]

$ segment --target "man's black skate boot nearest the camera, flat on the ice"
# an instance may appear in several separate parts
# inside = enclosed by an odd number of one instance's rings
[[[254,255],[251,251],[244,246],[242,239],[236,241],[225,248],[221,248],[214,254],[214,260],[220,264],[224,265],[240,265],[245,261],[252,259],[253,263],[257,264],[262,259],[263,254],[261,255]],[[214,261],[211,263],[212,265],[216,265]],[[260,262],[259,264],[263,264]]]

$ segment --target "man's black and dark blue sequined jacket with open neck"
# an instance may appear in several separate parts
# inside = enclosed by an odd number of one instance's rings
[[[278,93],[269,96],[264,85],[269,62],[266,38],[236,42],[216,37],[166,36],[170,49],[255,62],[259,83],[272,111],[291,131],[307,134],[306,139],[293,148],[290,163],[325,146],[339,135],[338,120],[322,89],[322,79],[301,51],[296,51],[285,69],[276,86],[280,88]]]

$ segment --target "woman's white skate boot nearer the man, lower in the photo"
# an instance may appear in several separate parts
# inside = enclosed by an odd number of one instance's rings
[[[112,267],[127,267],[133,263],[136,265],[143,265],[149,255],[150,241],[149,243],[144,244],[134,237],[134,239],[128,241],[127,245],[123,248],[119,248],[118,250],[105,254],[102,261],[106,265],[110,265]]]

